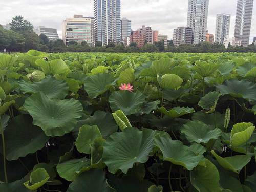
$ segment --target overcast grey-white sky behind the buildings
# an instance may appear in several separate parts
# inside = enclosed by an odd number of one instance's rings
[[[216,14],[231,14],[230,37],[234,33],[237,0],[210,0],[208,30],[215,34]],[[256,37],[256,2],[252,15],[251,41]],[[188,0],[121,0],[121,17],[132,20],[132,29],[141,25],[158,29],[173,39],[173,29],[186,25]],[[0,0],[0,24],[5,25],[15,15],[22,15],[34,26],[57,28],[73,14],[93,16],[93,0]]]

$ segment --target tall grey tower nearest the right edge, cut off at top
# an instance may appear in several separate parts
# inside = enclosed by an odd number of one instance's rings
[[[247,46],[250,40],[253,0],[238,0],[234,37]]]

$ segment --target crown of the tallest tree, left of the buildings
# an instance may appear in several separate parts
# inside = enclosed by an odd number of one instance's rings
[[[24,20],[23,16],[20,15],[12,18],[10,26],[11,30],[16,32],[33,31],[33,25],[28,20]]]

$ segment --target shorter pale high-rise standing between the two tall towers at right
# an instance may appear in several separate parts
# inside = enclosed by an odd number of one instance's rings
[[[216,18],[215,42],[224,44],[225,38],[229,37],[230,15],[218,14]]]

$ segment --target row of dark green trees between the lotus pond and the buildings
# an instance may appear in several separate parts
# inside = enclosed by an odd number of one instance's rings
[[[222,44],[209,44],[208,42],[203,42],[200,45],[180,45],[175,47],[172,40],[168,41],[167,47],[164,47],[163,41],[145,44],[142,48],[138,48],[134,42],[128,47],[125,47],[122,43],[118,45],[110,43],[108,46],[102,47],[101,42],[96,42],[95,47],[90,47],[85,41],[81,44],[71,41],[67,47],[61,39],[49,41],[44,34],[38,36],[33,31],[33,25],[22,16],[13,17],[10,26],[10,30],[5,30],[0,25],[0,50],[28,51],[35,49],[45,52],[256,52],[254,44],[248,47],[233,47],[229,45],[227,49]]]

